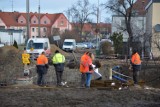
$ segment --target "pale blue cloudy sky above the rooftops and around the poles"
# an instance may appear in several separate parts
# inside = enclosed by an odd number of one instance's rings
[[[65,10],[76,4],[78,0],[40,0],[41,13],[64,13]],[[104,3],[106,0],[99,0]],[[98,0],[89,0],[91,4],[98,4]],[[38,12],[39,0],[30,0],[30,12]],[[26,12],[26,0],[0,0],[0,9],[2,11]],[[106,13],[101,10],[101,21],[104,22]],[[92,17],[95,21],[96,17]]]

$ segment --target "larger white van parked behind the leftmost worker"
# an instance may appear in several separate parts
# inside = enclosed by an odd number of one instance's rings
[[[27,42],[26,51],[30,54],[31,59],[37,59],[37,57],[43,52],[46,52],[46,56],[49,57],[50,42],[48,38],[30,38]]]

